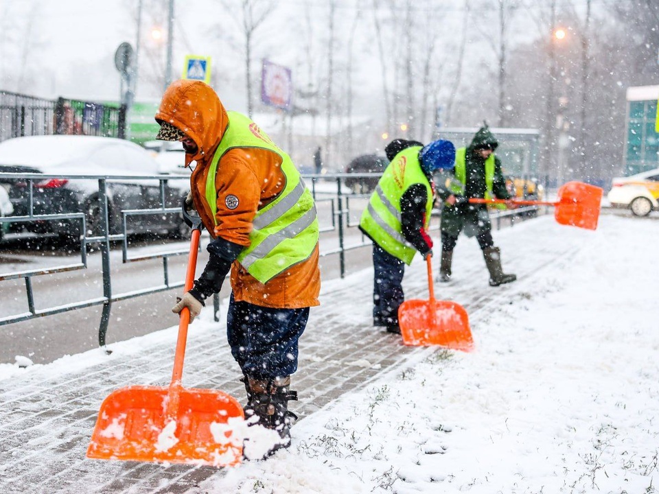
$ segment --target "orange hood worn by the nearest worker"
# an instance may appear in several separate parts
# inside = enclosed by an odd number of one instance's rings
[[[210,160],[224,136],[229,116],[213,88],[201,81],[177,80],[165,90],[156,121],[183,130],[197,145],[195,155],[185,154],[185,166]]]

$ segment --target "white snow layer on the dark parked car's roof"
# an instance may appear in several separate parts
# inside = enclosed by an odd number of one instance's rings
[[[107,144],[130,141],[113,137],[81,135],[46,135],[15,137],[0,143],[0,164],[24,166],[50,166],[89,156]]]

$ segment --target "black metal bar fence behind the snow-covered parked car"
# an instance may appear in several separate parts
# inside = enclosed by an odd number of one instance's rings
[[[50,134],[124,139],[126,106],[0,91],[0,142],[12,137]]]

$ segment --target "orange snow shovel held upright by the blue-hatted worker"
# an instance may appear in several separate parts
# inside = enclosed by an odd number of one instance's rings
[[[467,311],[455,302],[435,300],[430,257],[426,257],[430,300],[408,300],[398,308],[398,324],[403,343],[410,346],[439,345],[454,350],[472,351],[474,340]]]

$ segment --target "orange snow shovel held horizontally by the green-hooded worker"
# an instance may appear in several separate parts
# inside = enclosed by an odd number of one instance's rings
[[[603,189],[583,182],[568,182],[558,189],[556,202],[512,200],[520,205],[555,206],[554,217],[559,224],[577,226],[588,230],[597,229]],[[505,204],[503,199],[469,200],[474,204]]]

